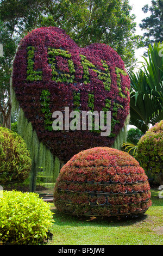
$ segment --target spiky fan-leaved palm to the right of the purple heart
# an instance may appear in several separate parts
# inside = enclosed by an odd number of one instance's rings
[[[130,72],[130,124],[145,133],[163,117],[163,57],[160,43],[149,45],[142,69]]]

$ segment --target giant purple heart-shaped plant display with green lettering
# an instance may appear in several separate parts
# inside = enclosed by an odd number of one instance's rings
[[[129,76],[118,54],[107,45],[80,48],[65,31],[35,29],[18,47],[12,87],[40,142],[66,162],[81,150],[111,147],[129,114]],[[53,112],[111,112],[111,133],[100,129],[54,130]],[[71,118],[70,118],[71,120]],[[67,125],[67,124],[66,124]]]

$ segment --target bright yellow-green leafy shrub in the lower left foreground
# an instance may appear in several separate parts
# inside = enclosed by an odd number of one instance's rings
[[[49,204],[36,193],[3,191],[0,198],[0,245],[37,245],[53,223]]]

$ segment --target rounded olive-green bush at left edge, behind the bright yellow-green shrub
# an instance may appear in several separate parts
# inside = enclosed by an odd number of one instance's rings
[[[23,139],[0,127],[0,184],[22,182],[30,172],[32,160]]]

